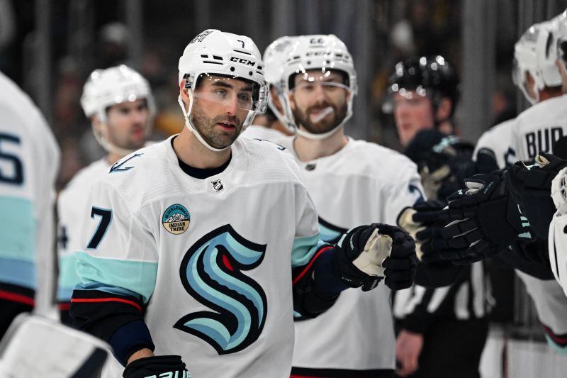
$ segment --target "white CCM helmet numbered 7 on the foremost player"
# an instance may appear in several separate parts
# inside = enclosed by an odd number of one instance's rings
[[[179,96],[179,105],[185,117],[185,125],[196,138],[209,150],[222,151],[230,148],[214,148],[206,143],[201,134],[191,125],[194,89],[201,75],[215,74],[235,79],[245,79],[254,84],[252,107],[242,125],[244,131],[257,113],[264,113],[268,105],[269,89],[264,79],[262,56],[252,39],[245,35],[224,33],[220,30],[207,29],[197,35],[186,46],[179,58],[179,82],[185,82],[189,95],[189,109]]]

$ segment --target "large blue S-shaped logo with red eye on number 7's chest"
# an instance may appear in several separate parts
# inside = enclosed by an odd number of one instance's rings
[[[259,338],[267,313],[262,287],[242,273],[264,260],[266,245],[242,238],[230,225],[199,239],[181,262],[183,286],[213,311],[189,313],[175,323],[209,343],[219,355],[238,352]]]

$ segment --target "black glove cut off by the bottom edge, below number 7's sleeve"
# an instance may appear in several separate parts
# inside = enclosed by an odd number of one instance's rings
[[[169,374],[169,375],[168,375]],[[124,378],[147,378],[147,377],[179,377],[190,378],[191,374],[181,361],[181,356],[152,356],[144,357],[130,362],[122,377]]]

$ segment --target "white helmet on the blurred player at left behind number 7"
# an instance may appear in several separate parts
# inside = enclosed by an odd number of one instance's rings
[[[81,106],[87,117],[97,116],[99,121],[107,125],[106,109],[108,106],[145,99],[148,110],[148,120],[145,128],[149,132],[152,118],[155,116],[155,102],[152,90],[147,80],[126,65],[110,67],[106,70],[94,70],[83,87]],[[96,140],[108,152],[128,155],[132,150],[126,150],[110,143],[101,129],[93,124]]]

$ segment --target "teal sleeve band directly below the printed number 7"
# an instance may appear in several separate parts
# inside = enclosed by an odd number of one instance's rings
[[[144,303],[150,300],[155,288],[157,262],[99,258],[85,252],[75,255],[81,287],[103,284],[104,287],[133,291],[142,296]]]

